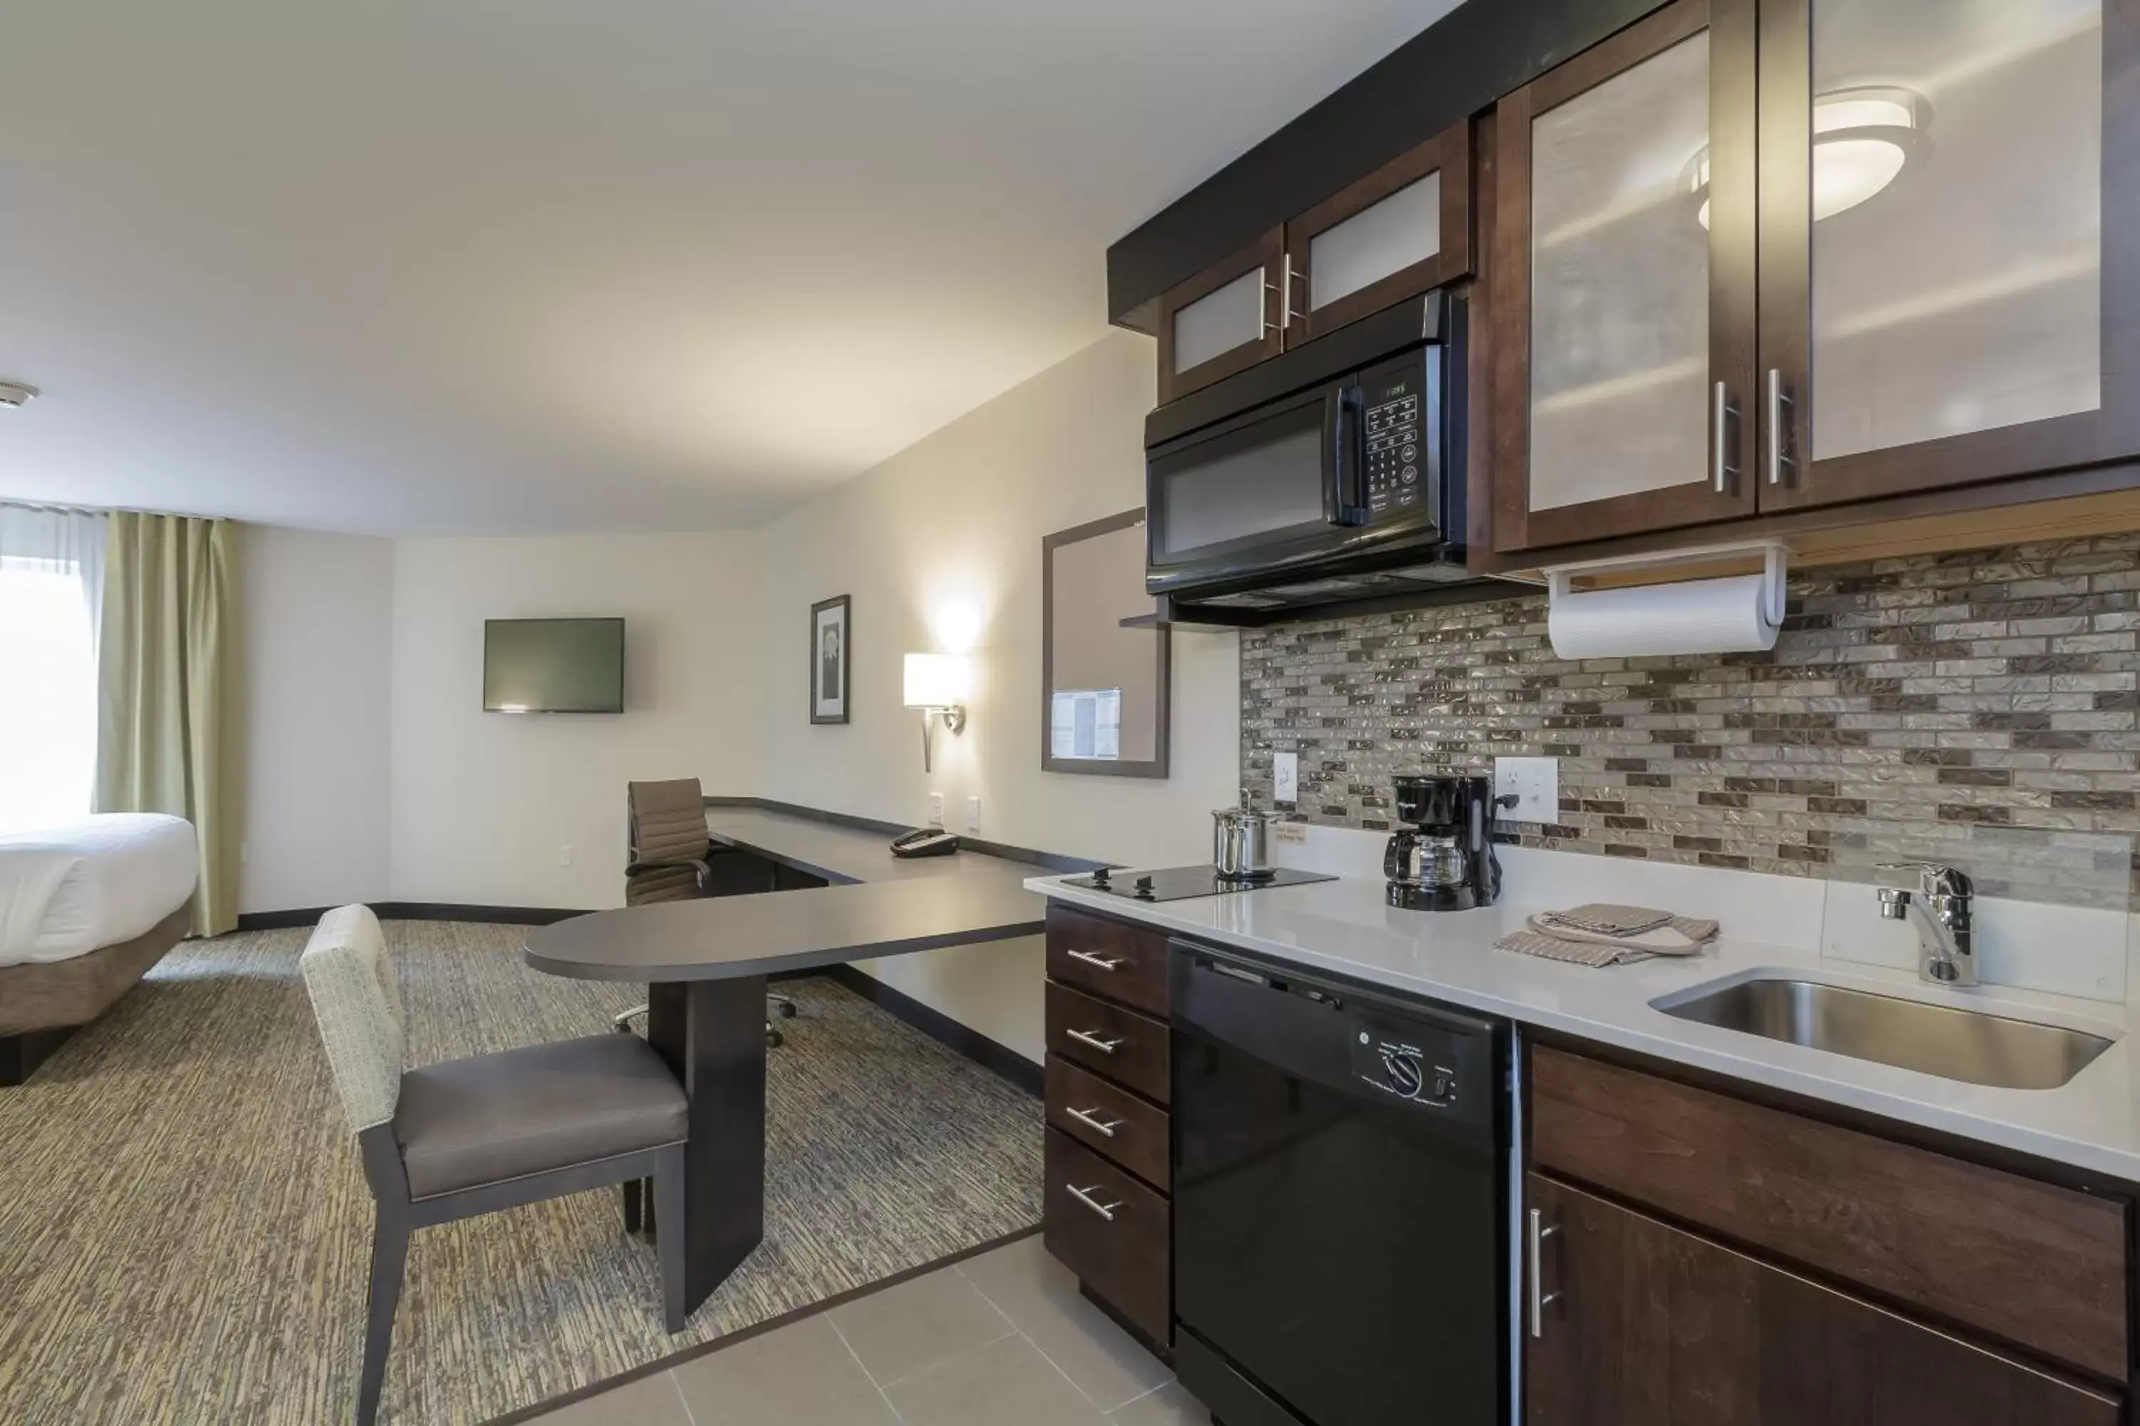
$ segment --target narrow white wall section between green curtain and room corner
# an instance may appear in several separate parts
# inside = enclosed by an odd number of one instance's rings
[[[244,526],[240,911],[387,896],[394,545]]]

